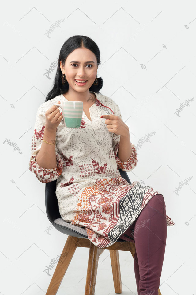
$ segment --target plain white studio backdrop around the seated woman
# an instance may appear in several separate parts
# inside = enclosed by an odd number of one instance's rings
[[[46,269],[67,239],[50,224],[45,184],[28,165],[37,109],[51,89],[60,48],[73,35],[89,36],[100,48],[100,92],[119,105],[137,147],[131,182],[163,194],[175,222],[167,227],[160,291],[196,294],[195,8],[194,1],[4,2],[1,294],[45,294],[56,264]],[[84,294],[88,253],[77,248],[58,295]],[[119,258],[122,294],[137,294],[134,260],[124,251]],[[99,259],[95,294],[115,294],[108,250]]]

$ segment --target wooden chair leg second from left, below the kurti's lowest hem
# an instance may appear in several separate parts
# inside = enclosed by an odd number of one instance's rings
[[[105,249],[98,248],[93,243],[90,243],[85,295],[95,294],[95,284],[96,284],[99,256],[104,250]]]

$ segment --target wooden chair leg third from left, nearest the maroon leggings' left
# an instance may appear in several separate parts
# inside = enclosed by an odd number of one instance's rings
[[[123,288],[120,274],[119,251],[110,250],[110,259],[115,293],[121,294],[123,292]]]

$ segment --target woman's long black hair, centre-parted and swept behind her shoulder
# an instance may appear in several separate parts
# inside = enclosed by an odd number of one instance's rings
[[[91,38],[87,36],[75,35],[67,39],[65,43],[62,45],[62,48],[60,50],[57,71],[56,71],[53,87],[51,91],[48,93],[48,95],[46,96],[45,102],[48,100],[51,100],[52,98],[60,94],[64,94],[68,91],[69,83],[66,81],[64,85],[62,84],[62,72],[60,69],[60,61],[62,62],[62,65],[64,66],[67,56],[75,49],[82,48],[82,47],[88,48],[95,54],[97,59],[97,65],[101,63],[99,47]],[[97,78],[97,82],[98,84],[94,85],[94,83],[96,84],[96,79],[95,79],[95,82],[91,85],[91,87],[89,88],[89,91],[100,93],[99,90],[103,87],[103,79],[99,77]]]

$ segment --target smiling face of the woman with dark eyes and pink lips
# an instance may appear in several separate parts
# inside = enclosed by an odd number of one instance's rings
[[[69,87],[74,91],[84,92],[91,87],[97,74],[97,60],[95,54],[87,48],[77,48],[66,58],[63,68],[60,61],[62,73],[65,74]],[[85,85],[76,80],[87,80]],[[79,85],[78,85],[79,84]]]

